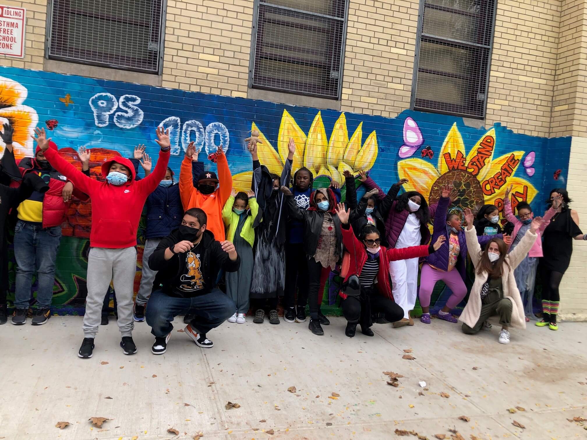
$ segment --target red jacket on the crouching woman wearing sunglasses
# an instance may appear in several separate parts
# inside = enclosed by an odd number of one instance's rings
[[[367,261],[367,251],[365,251],[365,245],[356,238],[352,226],[349,224],[341,225],[340,230],[342,232],[342,242],[345,245],[346,251],[350,254],[350,258],[346,255],[343,258],[343,260],[348,260],[349,262],[348,271],[343,274],[346,281],[351,275],[361,275],[363,266]],[[377,272],[377,290],[379,294],[393,300],[392,286],[389,282],[390,261],[425,257],[429,255],[428,251],[428,245],[410,246],[409,248],[402,249],[386,249],[381,246],[381,250],[379,251],[379,272]],[[344,263],[343,266],[345,266]],[[343,270],[345,270],[344,267]],[[342,299],[346,299],[347,297],[342,292],[339,292],[339,295]]]

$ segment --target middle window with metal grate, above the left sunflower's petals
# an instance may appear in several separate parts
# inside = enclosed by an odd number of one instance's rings
[[[348,0],[255,0],[251,87],[338,99]]]

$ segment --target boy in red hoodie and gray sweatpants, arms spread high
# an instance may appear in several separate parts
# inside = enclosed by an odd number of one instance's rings
[[[35,128],[33,137],[56,170],[66,175],[76,188],[92,200],[92,231],[87,258],[86,313],[83,317],[84,339],[77,356],[92,357],[94,338],[102,316],[102,302],[112,280],[116,290],[118,326],[122,333],[124,354],[134,354],[132,331],[133,282],[137,262],[137,229],[147,196],[165,177],[170,154],[168,131],[157,128],[157,144],[161,147],[157,166],[143,180],[136,181],[134,167],[124,157],[114,157],[102,165],[100,182],[87,177],[49,148],[44,128]]]

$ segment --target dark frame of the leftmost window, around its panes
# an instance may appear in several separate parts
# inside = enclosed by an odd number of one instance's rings
[[[116,15],[110,15],[109,13],[93,13],[87,11],[79,11],[77,9],[70,8],[68,12],[79,16],[86,16],[96,19],[104,19],[110,22],[124,23],[130,25],[142,25],[145,28],[151,28],[151,35],[149,45],[157,45],[157,53],[153,56],[153,69],[145,69],[141,67],[134,67],[130,64],[140,63],[141,60],[146,58],[137,58],[130,56],[109,56],[108,52],[99,52],[96,50],[79,49],[76,48],[74,51],[76,56],[68,55],[69,46],[66,45],[66,33],[63,26],[63,22],[68,21],[68,15],[64,14],[60,16],[61,22],[53,18],[56,16],[53,6],[56,4],[69,4],[68,0],[49,0],[47,2],[47,23],[46,23],[46,38],[45,38],[45,57],[47,59],[65,61],[70,63],[107,67],[110,69],[128,70],[129,72],[140,72],[150,73],[152,75],[161,75],[163,72],[163,51],[165,46],[165,26],[166,26],[166,12],[167,12],[167,0],[157,0],[160,2],[160,17],[158,21],[141,21],[132,18],[124,18]],[[153,16],[153,12],[151,12]],[[158,37],[158,41],[157,41]],[[55,38],[55,45],[52,45]],[[106,61],[97,61],[95,57],[101,56]],[[124,63],[116,62],[122,60]]]

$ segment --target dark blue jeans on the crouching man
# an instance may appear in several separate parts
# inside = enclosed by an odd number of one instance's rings
[[[220,326],[237,310],[234,302],[220,289],[212,289],[204,295],[193,298],[177,298],[168,296],[163,290],[151,293],[145,318],[156,337],[166,336],[173,325],[171,321],[180,314],[194,314],[191,326],[195,331],[206,334]]]

